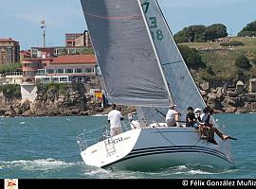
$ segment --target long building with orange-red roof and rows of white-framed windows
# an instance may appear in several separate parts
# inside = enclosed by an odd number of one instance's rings
[[[44,68],[35,73],[43,83],[96,82],[96,58],[94,55],[73,55],[46,61]]]

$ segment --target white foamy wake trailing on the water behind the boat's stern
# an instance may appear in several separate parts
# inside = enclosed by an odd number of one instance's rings
[[[76,163],[66,163],[64,161],[55,160],[52,158],[39,160],[17,160],[9,162],[0,161],[0,169],[15,167],[20,170],[49,170],[73,165],[76,165]]]

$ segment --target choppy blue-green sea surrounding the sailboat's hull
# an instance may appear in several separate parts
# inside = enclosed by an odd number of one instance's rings
[[[256,114],[217,114],[233,141],[235,166],[179,165],[155,172],[104,170],[82,162],[76,137],[100,129],[104,116],[0,118],[0,178],[17,179],[252,179],[256,178]]]

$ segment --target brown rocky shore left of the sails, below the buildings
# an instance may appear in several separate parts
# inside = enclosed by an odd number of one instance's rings
[[[94,96],[90,95],[87,86],[69,85],[65,90],[49,87],[39,88],[34,102],[12,99],[6,106],[0,107],[2,116],[71,116],[95,115],[110,112],[110,106],[102,106]],[[123,113],[133,112],[134,107],[121,107]]]

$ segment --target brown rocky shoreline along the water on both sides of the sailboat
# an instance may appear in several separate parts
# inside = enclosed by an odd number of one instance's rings
[[[199,90],[207,104],[215,112],[256,112],[256,93],[238,81],[234,87],[224,84],[223,87],[213,88],[210,83],[198,84]],[[254,88],[253,88],[254,87]],[[8,100],[9,101],[9,100]],[[122,113],[134,112],[134,107],[119,106]],[[50,86],[40,88],[36,100],[12,99],[6,106],[0,107],[2,116],[70,116],[106,114],[109,106],[102,106],[94,96],[89,94],[85,85],[69,85],[64,89]]]

